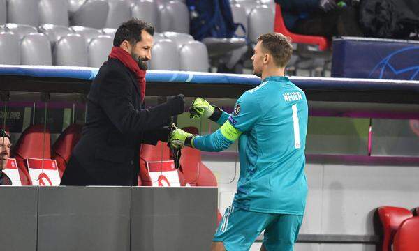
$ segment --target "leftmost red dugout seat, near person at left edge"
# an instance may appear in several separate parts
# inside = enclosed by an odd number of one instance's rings
[[[44,132],[43,125],[29,126],[20,135],[10,155],[16,159],[22,185],[32,185],[26,158],[51,158],[50,131],[46,129]]]

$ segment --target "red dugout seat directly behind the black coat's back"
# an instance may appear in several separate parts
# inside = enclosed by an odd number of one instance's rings
[[[54,145],[52,145],[51,156],[57,161],[60,178],[67,167],[68,160],[70,160],[71,152],[80,137],[82,137],[82,126],[71,124],[64,132],[61,132],[61,135],[59,135]]]

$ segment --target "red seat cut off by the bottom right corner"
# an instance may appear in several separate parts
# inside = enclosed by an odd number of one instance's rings
[[[419,217],[404,220],[393,241],[393,251],[417,251],[419,247]]]

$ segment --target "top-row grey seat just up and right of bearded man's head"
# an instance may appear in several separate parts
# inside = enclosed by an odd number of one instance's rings
[[[189,10],[181,1],[170,1],[159,8],[160,31],[189,33]]]

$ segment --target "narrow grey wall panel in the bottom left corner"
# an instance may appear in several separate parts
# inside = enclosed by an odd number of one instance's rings
[[[36,251],[37,187],[0,186],[0,246]]]

